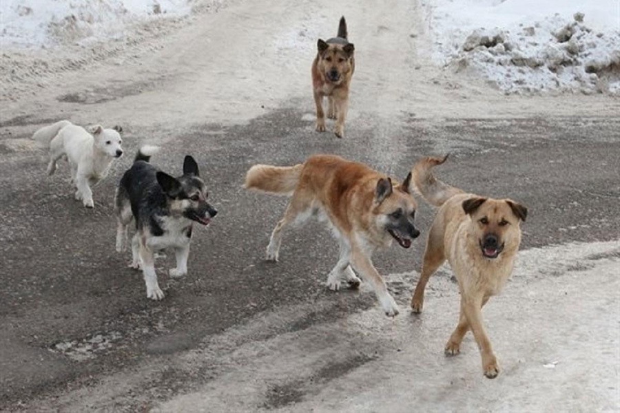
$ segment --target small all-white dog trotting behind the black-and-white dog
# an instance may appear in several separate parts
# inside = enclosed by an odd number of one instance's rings
[[[103,129],[101,125],[94,125],[87,131],[68,120],[61,120],[42,127],[32,138],[50,149],[48,175],[56,171],[60,158],[69,161],[71,181],[77,189],[75,199],[93,208],[90,187],[107,176],[114,159],[123,156],[121,131],[120,126]]]

